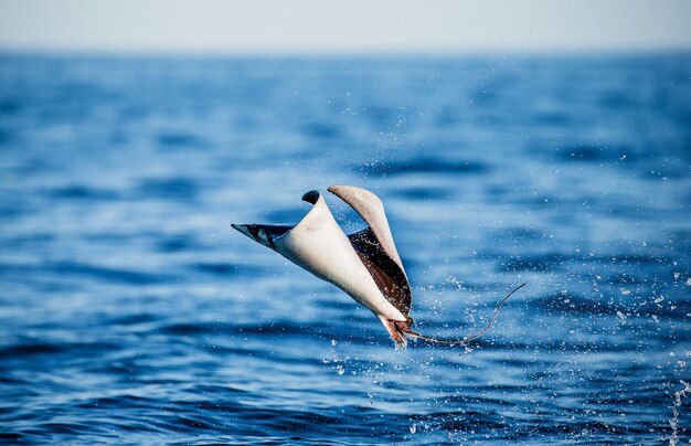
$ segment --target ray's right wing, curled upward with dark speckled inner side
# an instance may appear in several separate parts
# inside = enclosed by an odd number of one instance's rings
[[[348,203],[370,225],[348,238],[386,300],[407,318],[413,301],[411,286],[381,200],[372,192],[353,185],[332,185],[329,191]]]

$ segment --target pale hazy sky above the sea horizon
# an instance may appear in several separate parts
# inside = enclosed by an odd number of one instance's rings
[[[464,53],[691,49],[687,0],[0,0],[0,50]]]

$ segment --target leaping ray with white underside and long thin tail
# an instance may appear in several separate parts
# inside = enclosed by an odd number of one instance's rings
[[[398,347],[406,344],[406,334],[429,342],[467,344],[491,327],[503,304],[525,285],[509,293],[489,323],[472,336],[444,340],[419,334],[411,329],[411,286],[381,200],[354,185],[332,185],[328,190],[358,212],[369,226],[346,235],[321,193],[310,191],[302,200],[311,203],[312,209],[294,226],[233,224],[233,227],[315,276],[332,283],[369,308]]]

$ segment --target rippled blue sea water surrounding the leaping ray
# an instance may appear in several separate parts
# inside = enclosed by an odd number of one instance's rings
[[[2,55],[0,438],[685,444],[690,168],[689,53]],[[394,349],[231,227],[337,183],[421,332],[527,287]]]

